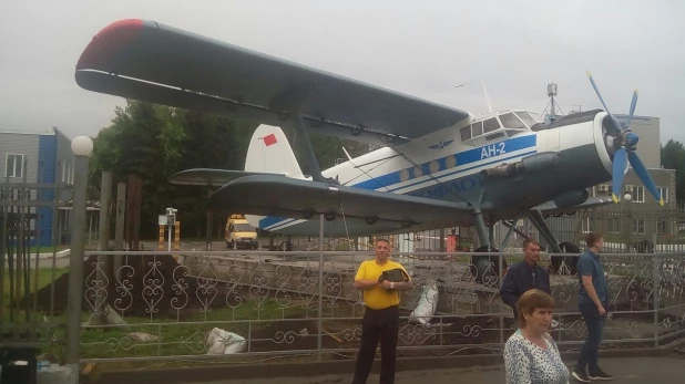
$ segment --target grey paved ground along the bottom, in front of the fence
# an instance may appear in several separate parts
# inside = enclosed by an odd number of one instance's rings
[[[377,362],[378,364],[378,362]],[[626,357],[602,359],[601,365],[607,373],[614,375],[610,383],[614,384],[676,384],[685,377],[685,357]],[[280,377],[268,380],[224,380],[221,382],[203,382],[202,384],[337,384],[350,383],[350,375],[326,375],[313,377]],[[370,375],[368,384],[378,383],[378,375]],[[501,366],[483,369],[452,369],[398,372],[396,384],[504,384],[504,373]],[[579,383],[571,378],[571,383]],[[201,384],[201,383],[184,383]]]

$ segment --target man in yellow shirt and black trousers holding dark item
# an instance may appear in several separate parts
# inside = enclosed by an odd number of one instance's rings
[[[407,270],[399,262],[388,260],[390,243],[379,239],[374,246],[376,257],[359,266],[355,288],[362,291],[364,319],[361,320],[361,345],[357,354],[357,369],[352,384],[366,384],[376,346],[380,339],[380,384],[395,383],[395,361],[399,331],[399,292],[413,288]],[[384,276],[384,272],[386,274]],[[397,276],[401,276],[398,279]]]

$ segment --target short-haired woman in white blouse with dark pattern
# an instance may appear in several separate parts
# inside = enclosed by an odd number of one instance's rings
[[[532,289],[517,302],[519,330],[504,345],[507,384],[568,384],[569,369],[548,333],[554,300]]]

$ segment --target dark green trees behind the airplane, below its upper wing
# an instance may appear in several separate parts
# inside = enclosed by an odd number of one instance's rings
[[[209,187],[177,186],[168,178],[183,169],[244,169],[247,148],[258,124],[209,115],[141,101],[126,101],[117,107],[112,124],[93,139],[89,175],[90,196],[99,199],[102,170],[112,170],[113,184],[126,183],[129,175],[143,178],[141,237],[154,238],[157,216],[166,207],[178,209],[184,233],[206,235],[206,197]],[[307,174],[304,151],[295,143],[295,131],[284,127],[296,158]],[[362,143],[323,135],[310,135],[323,169],[346,158],[343,145],[351,156],[369,151]],[[215,188],[215,187],[214,187]],[[215,212],[215,224],[225,222],[227,212]],[[222,227],[222,226],[217,226]],[[212,230],[212,229],[209,229]],[[221,230],[219,230],[221,231]]]

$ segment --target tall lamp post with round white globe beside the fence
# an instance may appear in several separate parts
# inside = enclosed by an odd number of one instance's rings
[[[71,142],[74,153],[74,185],[72,199],[71,255],[69,256],[69,294],[67,301],[67,356],[70,384],[79,383],[81,305],[83,300],[83,258],[85,245],[85,204],[88,200],[88,166],[93,141],[79,136]],[[102,207],[106,209],[106,207]]]

